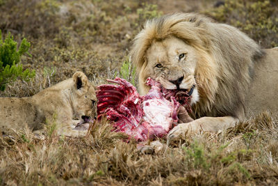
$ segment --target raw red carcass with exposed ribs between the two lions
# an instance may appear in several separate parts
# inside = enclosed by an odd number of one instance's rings
[[[107,81],[115,84],[97,87],[97,118],[106,116],[117,132],[129,134],[137,141],[165,136],[177,125],[179,107],[190,102],[186,92],[167,90],[151,78],[146,82],[151,89],[144,96],[125,79]]]

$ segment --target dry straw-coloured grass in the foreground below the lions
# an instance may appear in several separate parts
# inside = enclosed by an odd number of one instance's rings
[[[234,185],[278,183],[278,126],[268,112],[220,134],[199,134],[142,155],[133,141],[96,123],[88,137],[28,131],[0,138],[0,182],[16,185]],[[162,139],[163,140],[163,139]]]

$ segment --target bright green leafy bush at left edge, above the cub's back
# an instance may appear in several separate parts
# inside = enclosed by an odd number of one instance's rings
[[[27,42],[24,38],[17,50],[17,42],[13,40],[13,36],[10,36],[10,33],[4,42],[1,38],[0,31],[0,90],[4,91],[6,84],[15,82],[18,77],[24,81],[29,81],[35,76],[35,70],[23,70],[22,64],[19,64],[23,54],[26,53],[31,56],[28,53],[30,42]]]

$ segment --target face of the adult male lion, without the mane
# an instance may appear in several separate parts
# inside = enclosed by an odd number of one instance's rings
[[[199,95],[195,80],[197,54],[195,49],[179,38],[167,38],[154,42],[147,50],[147,66],[143,74],[161,82],[167,89],[189,91],[193,88],[191,104]]]

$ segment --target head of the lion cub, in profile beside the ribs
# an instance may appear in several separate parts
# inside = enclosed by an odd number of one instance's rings
[[[83,72],[75,72],[72,79],[74,80],[74,87],[72,88],[74,118],[88,122],[89,117],[95,114],[97,102],[95,88]]]

